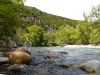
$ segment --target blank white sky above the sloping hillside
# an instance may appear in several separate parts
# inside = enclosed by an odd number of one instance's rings
[[[44,12],[75,20],[83,20],[83,12],[89,13],[100,0],[27,0],[25,5],[36,7]]]

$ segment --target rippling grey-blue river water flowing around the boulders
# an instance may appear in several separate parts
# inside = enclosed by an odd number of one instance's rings
[[[21,65],[20,71],[1,71],[5,75],[84,75],[75,67],[89,60],[100,61],[100,47],[29,47],[33,56],[29,65]],[[51,59],[47,55],[50,53]],[[67,64],[66,68],[59,65]]]

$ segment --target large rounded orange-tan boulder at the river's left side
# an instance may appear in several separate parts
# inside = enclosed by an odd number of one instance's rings
[[[25,64],[32,61],[31,54],[25,48],[19,48],[9,54],[11,64]]]

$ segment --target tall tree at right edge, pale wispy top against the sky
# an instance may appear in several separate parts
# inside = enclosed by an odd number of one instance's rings
[[[91,44],[100,44],[100,5],[93,7],[86,17],[91,22],[92,28],[89,42]]]

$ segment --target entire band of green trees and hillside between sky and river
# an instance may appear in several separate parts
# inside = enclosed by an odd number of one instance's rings
[[[23,46],[100,44],[100,6],[84,14],[84,21],[72,20],[24,6],[23,0],[0,0],[0,45],[14,41]]]

